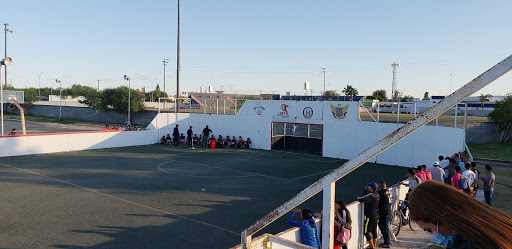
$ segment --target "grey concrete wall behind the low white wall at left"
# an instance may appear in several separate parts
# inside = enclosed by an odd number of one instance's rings
[[[52,105],[33,105],[30,107],[25,106],[25,114],[32,114],[36,116],[59,117],[60,106]],[[17,109],[7,112],[14,112],[19,114]],[[157,115],[158,111],[146,110],[139,113],[132,113],[132,124],[147,126]],[[114,111],[103,112],[96,111],[90,107],[76,107],[76,106],[62,106],[62,117],[73,118],[85,121],[94,121],[110,124],[126,124],[128,113],[121,114]]]

